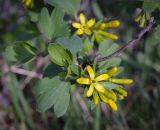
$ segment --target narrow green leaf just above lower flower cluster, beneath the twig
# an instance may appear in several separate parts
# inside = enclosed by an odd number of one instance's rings
[[[111,59],[108,59],[105,62],[100,63],[98,71],[99,72],[104,72],[104,71],[106,71],[110,67],[117,67],[117,66],[119,66],[120,63],[121,63],[121,58],[113,57]]]

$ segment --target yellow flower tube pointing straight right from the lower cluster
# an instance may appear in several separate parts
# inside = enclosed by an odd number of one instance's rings
[[[118,84],[131,84],[133,83],[132,79],[109,79],[110,82],[118,83]]]

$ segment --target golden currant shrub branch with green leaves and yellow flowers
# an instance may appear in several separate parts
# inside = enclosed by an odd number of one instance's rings
[[[117,111],[117,102],[127,96],[126,87],[134,82],[132,77],[119,76],[125,69],[120,54],[152,29],[156,23],[153,12],[160,8],[159,2],[137,1],[141,6],[135,19],[131,19],[142,31],[123,46],[117,42],[121,34],[113,33],[123,20],[100,19],[80,11],[83,2],[48,0],[39,12],[34,12],[37,6],[33,0],[22,2],[37,27],[38,36],[14,43],[6,48],[5,54],[10,52],[9,59],[19,65],[37,56],[47,59],[40,80],[32,87],[40,112],[54,109],[58,117],[62,116],[70,104],[71,93],[80,88],[91,108],[104,103],[108,109]],[[33,41],[39,37],[42,46],[38,48]]]

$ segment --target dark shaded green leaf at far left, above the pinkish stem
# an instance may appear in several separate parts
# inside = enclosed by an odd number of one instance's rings
[[[26,63],[30,61],[37,52],[37,49],[26,42],[17,42],[13,46],[15,51],[15,58],[19,63]]]

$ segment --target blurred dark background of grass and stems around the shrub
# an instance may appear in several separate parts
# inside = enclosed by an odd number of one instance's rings
[[[14,65],[12,51],[5,48],[15,41],[39,36],[36,19],[32,16],[36,16],[35,12],[44,4],[45,1],[35,1],[32,11],[20,0],[0,0],[0,130],[159,130],[160,30],[152,30],[123,54],[125,70],[121,77],[134,79],[134,84],[127,88],[128,96],[118,103],[118,112],[112,112],[104,104],[90,110],[79,91],[72,93],[69,109],[61,118],[52,110],[36,111],[32,86],[37,79],[17,74],[16,71],[22,70]],[[120,20],[121,27],[115,30],[121,46],[140,31],[134,22],[140,4],[132,0],[84,0],[80,11],[97,18]],[[40,50],[45,49],[41,37],[34,39],[34,43]],[[22,73],[40,72],[44,63],[48,61],[37,57],[23,65],[27,71]]]

